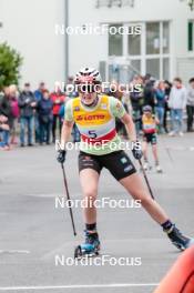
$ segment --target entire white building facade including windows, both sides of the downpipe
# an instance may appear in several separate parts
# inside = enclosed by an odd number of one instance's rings
[[[194,77],[194,11],[185,1],[0,0],[0,41],[21,52],[21,83],[33,87],[43,80],[53,88],[83,65],[99,68],[104,81],[150,73],[187,82]],[[99,27],[108,29],[99,33]]]

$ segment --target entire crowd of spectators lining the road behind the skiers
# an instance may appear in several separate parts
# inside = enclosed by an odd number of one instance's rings
[[[69,83],[72,83],[72,78]],[[130,82],[130,91],[124,85],[121,90],[119,85],[116,81],[112,82],[105,93],[122,101],[133,117],[137,134],[142,132],[144,105],[151,105],[153,114],[157,117],[159,133],[183,135],[184,120],[186,131],[193,131],[194,78],[185,87],[180,78],[171,83],[155,81],[150,74],[135,75]],[[111,87],[114,88],[113,91]],[[0,150],[10,150],[16,144],[23,148],[35,143],[54,143],[60,138],[65,102],[76,95],[75,91],[67,92],[59,82],[54,84],[53,92],[47,89],[44,82],[35,91],[29,82],[24,83],[21,91],[14,84],[4,87],[0,93]],[[121,121],[116,121],[116,129],[126,137]],[[74,142],[80,140],[75,125],[72,134]]]

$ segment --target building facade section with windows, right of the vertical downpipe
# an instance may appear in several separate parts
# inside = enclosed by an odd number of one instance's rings
[[[70,16],[72,27],[141,28],[141,34],[70,36],[71,73],[84,63],[100,67],[106,80],[123,82],[134,73],[169,80],[180,75],[184,82],[194,75],[194,11],[184,1],[71,0]]]

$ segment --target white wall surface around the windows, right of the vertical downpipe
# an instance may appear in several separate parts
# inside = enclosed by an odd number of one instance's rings
[[[177,74],[177,59],[187,58],[187,19],[194,18],[194,12],[185,2],[178,0],[135,0],[135,7],[95,8],[95,0],[70,0],[70,26],[84,23],[115,23],[136,21],[169,20],[172,26],[172,72]],[[71,36],[70,37],[70,71],[73,74],[80,65],[98,67],[100,60],[108,59],[108,38],[105,36]],[[194,53],[190,54],[191,57]]]

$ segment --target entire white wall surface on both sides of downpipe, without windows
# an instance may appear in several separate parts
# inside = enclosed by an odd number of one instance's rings
[[[104,22],[170,20],[172,23],[172,74],[176,75],[177,59],[187,53],[187,19],[194,19],[178,0],[135,0],[135,7],[95,8],[95,0],[69,0],[70,26],[93,26]],[[55,34],[54,26],[64,24],[64,0],[0,0],[0,41],[8,41],[24,58],[22,80],[37,87],[45,81],[53,88],[64,79],[64,36]],[[70,36],[70,74],[84,64],[98,67],[108,59],[108,37]]]

